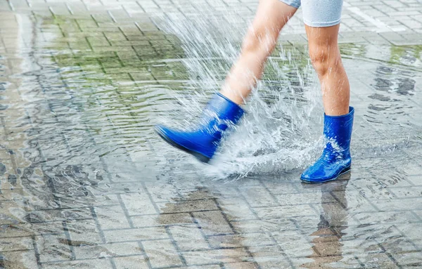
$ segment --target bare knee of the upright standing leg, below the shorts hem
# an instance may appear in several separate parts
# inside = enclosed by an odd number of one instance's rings
[[[309,58],[319,76],[324,76],[340,63],[340,53],[336,46],[309,46]]]

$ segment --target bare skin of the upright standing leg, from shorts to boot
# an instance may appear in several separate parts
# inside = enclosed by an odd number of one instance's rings
[[[350,86],[338,49],[339,27],[306,26],[309,57],[321,83],[322,101],[328,116],[349,113]]]

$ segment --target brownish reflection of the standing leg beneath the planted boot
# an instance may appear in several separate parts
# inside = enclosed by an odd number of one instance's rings
[[[303,265],[305,268],[333,268],[329,263],[343,259],[340,242],[347,228],[347,199],[345,190],[350,180],[350,173],[346,173],[337,181],[324,183],[321,188],[321,215],[312,239],[312,263]],[[335,192],[335,195],[334,195]]]

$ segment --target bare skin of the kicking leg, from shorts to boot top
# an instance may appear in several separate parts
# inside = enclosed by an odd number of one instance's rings
[[[264,63],[276,46],[279,33],[297,8],[279,0],[260,0],[257,14],[246,34],[241,55],[231,67],[222,87],[222,95],[238,105],[244,103],[260,79]]]

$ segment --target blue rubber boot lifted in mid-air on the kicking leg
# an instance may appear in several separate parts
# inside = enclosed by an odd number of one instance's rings
[[[243,115],[243,109],[220,93],[215,94],[204,110],[200,125],[193,131],[179,131],[155,126],[155,131],[170,145],[190,153],[200,162],[209,162],[222,135]]]

